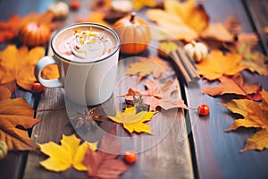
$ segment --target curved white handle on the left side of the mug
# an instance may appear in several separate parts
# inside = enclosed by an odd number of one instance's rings
[[[41,73],[43,69],[49,64],[57,64],[57,62],[54,60],[54,57],[44,56],[38,61],[34,70],[36,79],[38,79],[38,81],[47,88],[63,87],[63,83],[60,81],[59,78],[51,80],[46,80],[42,78]]]

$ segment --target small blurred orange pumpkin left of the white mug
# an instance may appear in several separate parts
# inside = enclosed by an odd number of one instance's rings
[[[46,44],[50,36],[50,28],[40,22],[29,22],[19,32],[21,42],[31,47]]]

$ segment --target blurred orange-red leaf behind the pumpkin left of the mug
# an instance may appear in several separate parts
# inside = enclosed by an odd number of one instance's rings
[[[54,22],[53,13],[29,13],[25,17],[14,14],[9,21],[0,21],[0,43],[4,43],[15,38],[19,34],[21,27],[30,21],[37,21],[46,24],[51,30],[54,30],[59,23]]]

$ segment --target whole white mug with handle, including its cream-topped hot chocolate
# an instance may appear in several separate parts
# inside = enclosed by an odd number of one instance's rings
[[[59,30],[51,40],[53,55],[42,57],[35,67],[38,81],[47,88],[63,87],[79,105],[95,106],[113,94],[120,40],[116,32],[96,23],[77,23]],[[58,79],[43,79],[50,64],[59,69]]]

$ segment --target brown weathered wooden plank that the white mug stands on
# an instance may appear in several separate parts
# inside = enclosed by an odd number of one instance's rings
[[[119,70],[121,74],[125,73],[125,68],[129,66],[131,61],[121,61]],[[120,76],[121,76],[120,74]],[[127,91],[132,85],[137,85],[135,77],[130,77],[126,81],[121,81],[121,85],[115,90],[117,92]],[[121,93],[122,94],[122,93]],[[117,107],[122,107],[122,99],[113,95],[104,104],[96,107],[96,112],[103,115],[114,115]],[[67,110],[77,110],[79,106],[69,106],[69,102],[65,101]],[[63,89],[46,89],[46,93],[41,98],[38,110],[49,109],[54,107],[63,107],[64,93]],[[69,107],[69,108],[68,108]],[[70,115],[72,111],[68,111]],[[37,117],[42,122],[37,124],[32,132],[32,139],[38,143],[47,141],[55,141],[59,143],[62,134],[71,134],[77,132],[83,139],[92,139],[95,136],[92,132],[83,132],[73,129],[68,118],[65,108],[61,110],[38,112]],[[157,117],[149,122],[152,126],[153,136],[147,134],[133,134],[130,136],[128,132],[122,129],[120,125],[116,127],[116,134],[122,138],[122,151],[126,149],[135,149],[138,151],[138,161],[135,165],[122,175],[122,178],[193,178],[193,169],[191,165],[191,156],[188,145],[188,135],[184,115],[181,111],[170,110],[162,111]],[[75,126],[75,125],[74,125]],[[110,132],[113,123],[105,120],[101,125],[101,129]],[[90,134],[92,134],[90,136]],[[27,160],[24,178],[63,178],[66,175],[85,176],[85,173],[78,173],[75,170],[53,173],[46,171],[38,165],[38,162],[45,159],[44,155],[38,152],[30,152]]]

